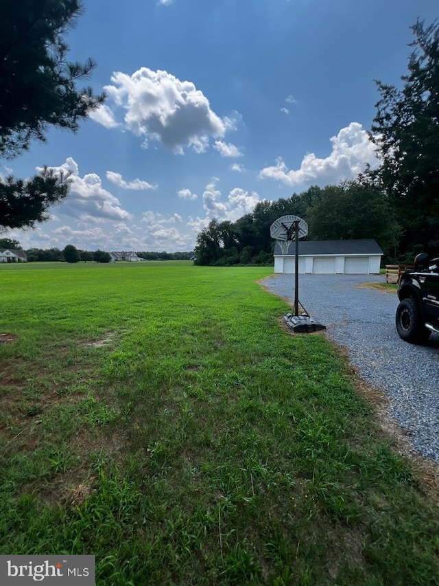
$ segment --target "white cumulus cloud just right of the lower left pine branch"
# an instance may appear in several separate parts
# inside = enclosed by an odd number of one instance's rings
[[[95,173],[80,177],[78,164],[69,157],[59,167],[52,167],[55,172],[70,172],[71,184],[69,196],[57,207],[58,212],[68,216],[91,216],[108,220],[128,220],[130,214],[123,210],[120,202],[102,187],[101,178]],[[37,167],[37,171],[42,168]]]

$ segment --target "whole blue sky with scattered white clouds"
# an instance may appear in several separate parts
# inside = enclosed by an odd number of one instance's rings
[[[24,248],[187,251],[212,218],[376,164],[375,79],[399,84],[437,0],[84,0],[70,60],[105,106],[0,172],[71,170]]]

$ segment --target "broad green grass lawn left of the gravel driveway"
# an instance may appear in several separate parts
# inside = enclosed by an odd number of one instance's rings
[[[0,267],[0,554],[98,585],[438,584],[439,514],[268,268]]]

